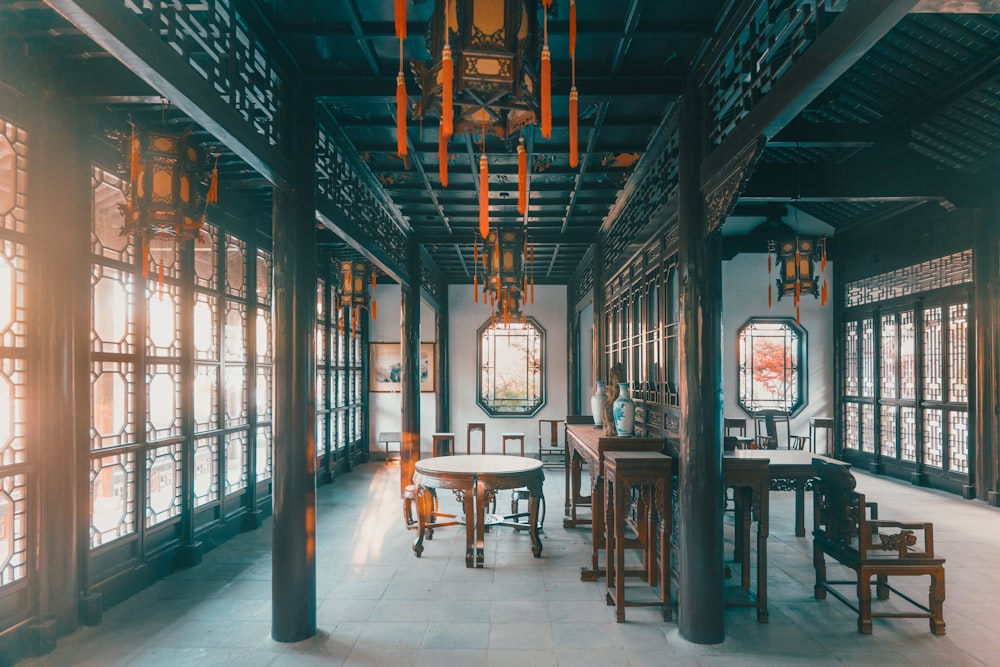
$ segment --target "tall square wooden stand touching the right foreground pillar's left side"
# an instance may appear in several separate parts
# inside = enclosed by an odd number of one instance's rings
[[[615,606],[615,620],[619,623],[625,620],[625,607],[653,605],[662,605],[663,620],[669,621],[673,618],[669,569],[673,461],[669,456],[656,452],[605,452],[604,483],[607,517],[606,601]],[[656,602],[625,600],[625,549],[628,548],[625,526],[633,490],[638,491],[635,512],[638,547],[644,552],[646,581],[650,586],[659,584],[660,599]]]

